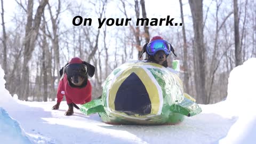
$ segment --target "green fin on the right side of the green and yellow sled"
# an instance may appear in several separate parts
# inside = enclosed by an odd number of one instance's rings
[[[202,109],[197,103],[184,98],[182,101],[176,101],[170,109],[173,113],[179,113],[185,116],[194,116],[201,113]]]

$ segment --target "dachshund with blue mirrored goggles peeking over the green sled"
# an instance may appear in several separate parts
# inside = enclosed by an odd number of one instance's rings
[[[158,63],[164,67],[168,67],[166,58],[171,52],[177,57],[172,45],[161,36],[154,36],[149,43],[143,46],[140,58],[145,52],[148,54],[148,61]]]

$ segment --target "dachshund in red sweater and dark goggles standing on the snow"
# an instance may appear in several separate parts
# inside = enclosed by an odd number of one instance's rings
[[[76,104],[84,104],[91,101],[92,86],[88,80],[88,75],[92,77],[95,67],[90,63],[82,61],[80,58],[72,58],[60,72],[60,82],[57,92],[57,104],[52,109],[59,109],[60,102],[65,95],[68,110],[65,115],[74,114],[73,107],[79,109]]]

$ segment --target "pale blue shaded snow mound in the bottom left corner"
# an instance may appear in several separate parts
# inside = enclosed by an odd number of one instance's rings
[[[21,129],[19,123],[12,119],[7,112],[0,107],[0,140],[3,143],[29,144],[31,141]]]

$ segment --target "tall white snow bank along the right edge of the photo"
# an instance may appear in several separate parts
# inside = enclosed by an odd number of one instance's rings
[[[256,58],[234,68],[228,79],[229,112],[239,116],[227,136],[219,143],[255,143],[256,137]]]

